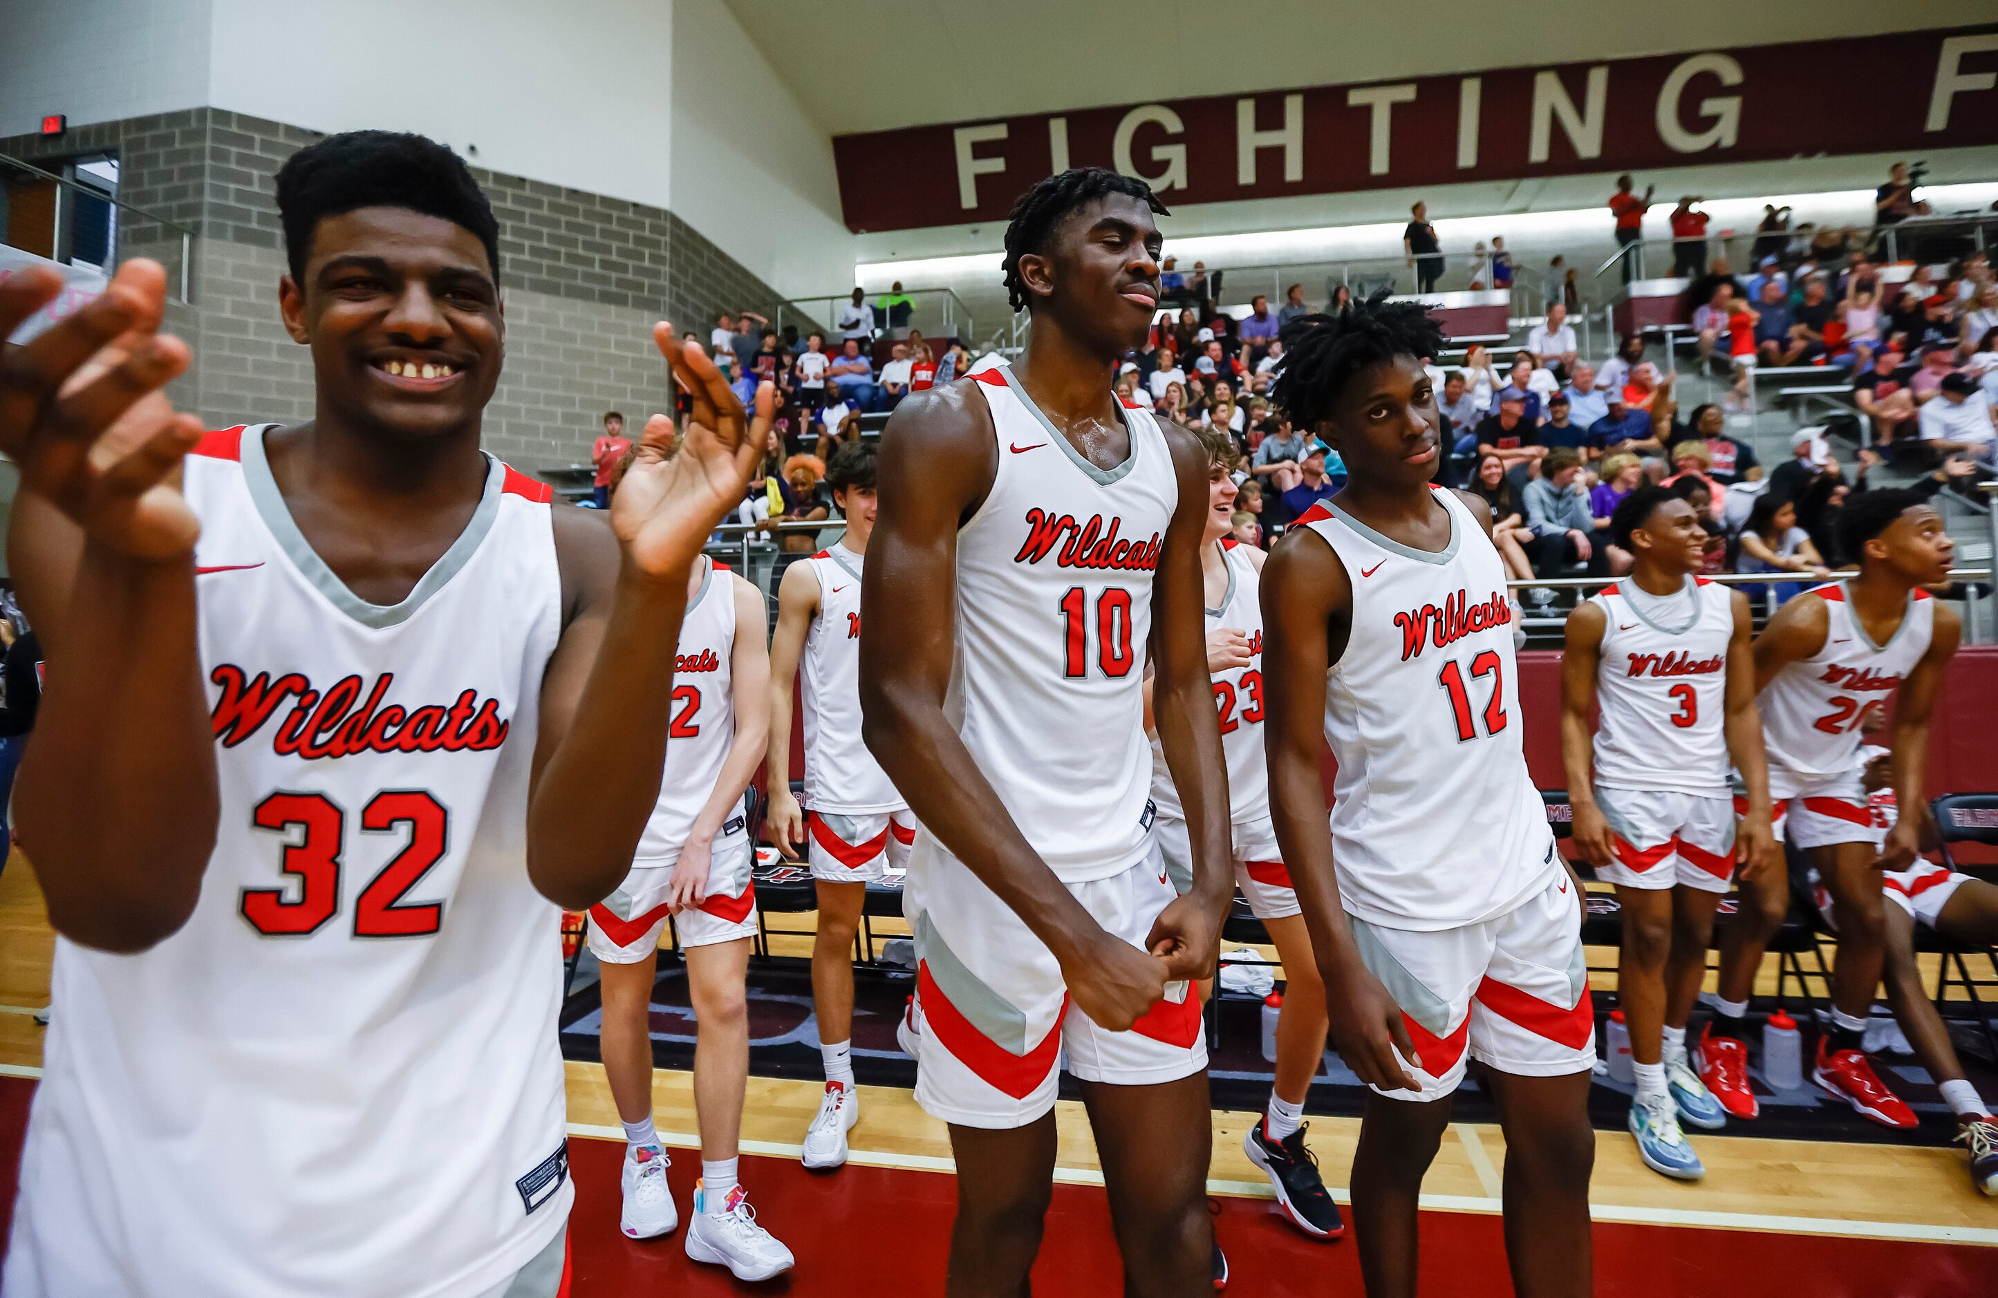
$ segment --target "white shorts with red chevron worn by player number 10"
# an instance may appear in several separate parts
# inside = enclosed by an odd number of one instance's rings
[[[1131,869],[1065,885],[1113,937],[1143,947],[1177,897],[1157,847]],[[1055,1106],[1061,1058],[1085,1082],[1153,1086],[1207,1068],[1201,996],[1173,982],[1125,1032],[1069,1004],[1055,955],[1019,915],[925,837],[909,859],[903,915],[915,929],[915,1102],[959,1126],[1007,1130]]]

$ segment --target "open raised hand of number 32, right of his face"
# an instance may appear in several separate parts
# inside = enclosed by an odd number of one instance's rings
[[[645,575],[685,577],[707,535],[741,503],[777,397],[771,383],[757,387],[749,417],[697,341],[677,337],[665,322],[653,325],[651,339],[693,397],[693,417],[683,437],[675,437],[667,415],[645,421],[631,467],[611,497],[611,531]]]

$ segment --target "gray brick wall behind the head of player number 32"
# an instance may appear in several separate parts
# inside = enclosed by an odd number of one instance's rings
[[[278,320],[286,272],[274,178],[320,134],[244,114],[194,108],[74,128],[58,140],[0,138],[26,160],[112,150],[120,198],[198,234],[192,304],[168,327],[194,345],[174,401],[216,427],[296,421],[312,413],[306,347]],[[484,168],[472,174],[500,218],[500,284],[507,365],[486,419],[486,445],[523,469],[587,459],[603,409],[633,425],[669,407],[651,322],[705,337],[721,310],[777,292],[663,208],[647,208]],[[122,216],[120,256],[180,270],[180,236]]]

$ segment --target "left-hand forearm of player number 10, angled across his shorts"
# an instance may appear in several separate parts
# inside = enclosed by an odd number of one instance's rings
[[[943,707],[909,693],[893,681],[861,677],[861,739],[867,751],[909,799],[909,811],[923,829],[1019,915],[1057,961],[1087,951],[1103,937],[1103,927],[1019,833]]]

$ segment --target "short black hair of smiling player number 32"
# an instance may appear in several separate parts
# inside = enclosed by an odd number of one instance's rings
[[[486,246],[486,264],[500,280],[500,222],[464,160],[428,136],[350,130],[308,144],[278,168],[278,220],[296,284],[306,282],[320,222],[360,208],[408,208],[464,226]]]

